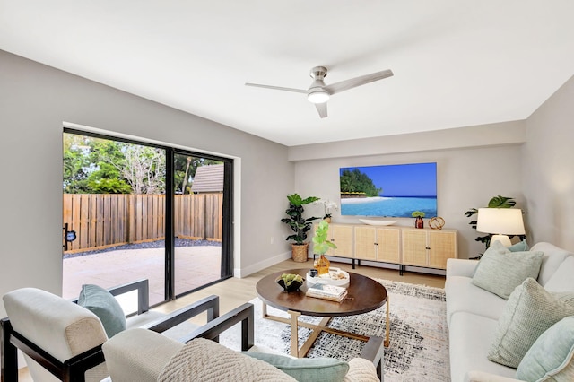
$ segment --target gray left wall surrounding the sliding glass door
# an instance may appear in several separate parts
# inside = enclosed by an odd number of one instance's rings
[[[0,295],[61,293],[64,122],[237,158],[236,274],[290,256],[279,221],[294,183],[285,146],[4,51],[0,68]]]

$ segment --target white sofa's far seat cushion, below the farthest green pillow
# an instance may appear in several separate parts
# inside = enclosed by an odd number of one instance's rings
[[[506,300],[473,284],[473,279],[450,276],[445,282],[447,294],[447,324],[453,313],[465,311],[498,320]]]

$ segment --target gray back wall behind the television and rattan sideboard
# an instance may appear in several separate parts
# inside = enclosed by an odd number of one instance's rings
[[[397,139],[396,136],[387,140],[377,138],[376,146],[379,148],[379,153],[369,156],[361,153],[369,151],[365,146],[369,146],[372,140],[367,144],[362,140],[353,142],[353,150],[347,147],[346,153],[349,155],[344,158],[297,161],[295,188],[306,196],[319,196],[339,203],[338,171],[341,167],[436,161],[439,216],[446,221],[445,228],[459,231],[459,256],[462,258],[476,256],[483,253],[484,247],[474,241],[479,234],[468,224],[471,220],[466,218],[464,213],[470,208],[485,206],[494,195],[514,196],[518,204],[524,200],[520,186],[522,179],[520,146],[524,141],[524,130],[524,123],[513,122],[508,126],[496,124],[455,129],[450,132],[445,130],[425,133],[425,139],[417,140],[415,144],[409,144],[414,140],[409,135],[404,135],[402,139]],[[513,134],[496,134],[501,131]],[[449,142],[444,139],[444,135],[448,135]],[[477,142],[473,138],[474,135],[480,135],[481,138],[477,140],[483,139],[484,136],[498,138],[491,139],[491,144],[483,147],[465,147],[469,143]],[[457,136],[460,139],[456,139]],[[334,150],[331,144],[323,148],[314,145],[315,155],[332,156]],[[421,147],[419,151],[414,152],[413,147],[416,144]],[[440,149],[433,150],[432,147]],[[408,148],[411,148],[410,152]],[[309,150],[302,150],[299,147],[297,154],[308,156]],[[291,155],[295,153],[290,152]],[[309,208],[309,213],[320,215],[322,210],[320,206],[314,206]],[[340,211],[335,211],[333,221],[360,222],[356,218],[342,217]],[[410,218],[402,218],[396,224],[412,225],[413,221]]]

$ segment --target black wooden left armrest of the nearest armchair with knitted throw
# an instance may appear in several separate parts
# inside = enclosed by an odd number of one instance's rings
[[[188,343],[198,337],[217,341],[219,334],[239,322],[241,323],[241,351],[247,351],[255,342],[255,308],[250,303],[245,303],[197,328],[183,338],[183,342]]]

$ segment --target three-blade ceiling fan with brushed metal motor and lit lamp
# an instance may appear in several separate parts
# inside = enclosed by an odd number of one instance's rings
[[[369,82],[375,82],[390,77],[393,75],[393,72],[387,69],[381,72],[365,74],[359,77],[351,78],[349,80],[335,82],[330,85],[326,85],[325,82],[323,82],[323,79],[326,77],[325,66],[315,66],[313,69],[311,69],[309,75],[313,79],[313,82],[311,82],[308,90],[283,88],[281,86],[261,85],[258,83],[246,83],[246,86],[274,89],[277,91],[294,91],[298,93],[305,93],[307,94],[307,100],[315,104],[315,107],[319,112],[319,116],[325,118],[326,101],[329,100],[330,96],[336,93],[340,93],[341,91],[347,91],[349,89],[356,88],[357,86],[361,86]]]

